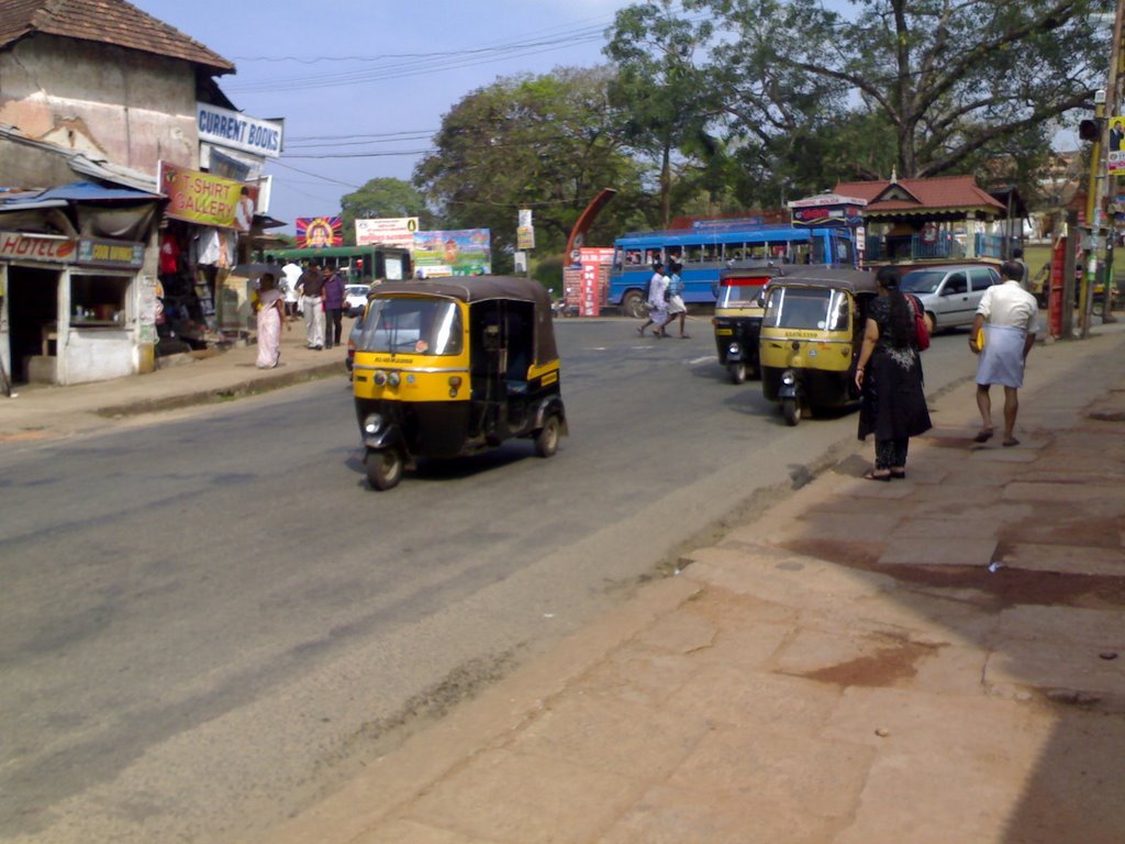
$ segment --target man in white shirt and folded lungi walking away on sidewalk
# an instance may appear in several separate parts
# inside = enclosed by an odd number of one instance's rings
[[[969,335],[969,348],[979,353],[976,365],[976,407],[981,412],[981,430],[974,440],[987,442],[992,437],[992,398],[989,387],[1004,387],[1004,445],[1018,446],[1016,414],[1019,412],[1019,387],[1024,386],[1027,353],[1035,343],[1040,308],[1035,297],[1020,285],[1024,268],[1016,261],[1005,261],[1000,268],[1005,281],[984,291],[976,308],[976,318]],[[983,330],[984,348],[978,344]]]

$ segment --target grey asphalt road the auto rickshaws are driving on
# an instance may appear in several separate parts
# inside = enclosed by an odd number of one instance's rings
[[[855,448],[731,385],[706,320],[634,325],[559,321],[550,460],[375,493],[338,379],[0,455],[0,838],[258,835]]]

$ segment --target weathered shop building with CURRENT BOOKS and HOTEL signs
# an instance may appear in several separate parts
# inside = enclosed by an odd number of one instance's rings
[[[280,225],[267,216],[263,173],[280,152],[280,122],[240,115],[216,83],[234,65],[127,2],[9,7],[0,363],[17,381],[75,384],[220,344],[223,273],[263,225]],[[181,213],[161,183],[161,172],[206,170],[230,215]]]

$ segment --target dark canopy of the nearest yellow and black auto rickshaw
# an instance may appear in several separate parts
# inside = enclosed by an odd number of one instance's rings
[[[555,326],[551,322],[551,297],[538,281],[514,276],[453,276],[414,281],[385,281],[372,289],[376,298],[390,296],[431,296],[457,299],[472,305],[478,302],[530,302],[534,308],[536,363],[558,360]]]

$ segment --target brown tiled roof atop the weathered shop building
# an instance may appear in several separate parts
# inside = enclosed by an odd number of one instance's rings
[[[35,33],[181,59],[218,73],[234,64],[125,0],[0,0],[0,47]]]

